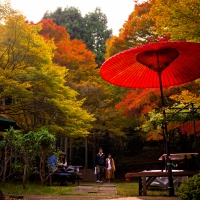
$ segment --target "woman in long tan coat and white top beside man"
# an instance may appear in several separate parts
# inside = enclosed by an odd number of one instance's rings
[[[108,154],[108,158],[106,158],[106,180],[110,183],[111,179],[114,179],[115,172],[115,162],[111,157],[111,154]]]

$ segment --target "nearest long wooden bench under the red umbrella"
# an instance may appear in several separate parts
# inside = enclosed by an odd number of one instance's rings
[[[172,171],[172,176],[193,176],[198,174],[199,171]],[[147,189],[150,184],[157,177],[168,177],[167,171],[155,170],[155,171],[143,171],[143,172],[130,172],[125,174],[126,180],[130,180],[131,178],[138,178],[139,183],[139,196],[147,195]]]

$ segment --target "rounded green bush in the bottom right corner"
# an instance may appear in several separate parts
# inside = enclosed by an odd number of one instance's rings
[[[200,174],[184,180],[178,189],[181,200],[199,200],[200,199]]]

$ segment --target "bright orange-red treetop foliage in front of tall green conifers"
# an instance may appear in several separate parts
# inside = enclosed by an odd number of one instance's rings
[[[95,54],[89,51],[83,42],[77,39],[71,41],[64,27],[57,26],[50,19],[40,23],[42,23],[40,34],[47,40],[54,39],[57,47],[54,52],[54,62],[75,70],[79,67],[85,70],[96,67]]]

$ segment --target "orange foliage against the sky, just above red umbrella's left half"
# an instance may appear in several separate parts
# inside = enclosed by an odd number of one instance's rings
[[[119,36],[113,36],[106,42],[106,58],[132,47],[144,45],[156,40],[151,30],[154,22],[148,18],[151,9],[149,2],[135,4],[133,12],[119,31]]]

